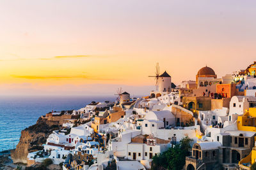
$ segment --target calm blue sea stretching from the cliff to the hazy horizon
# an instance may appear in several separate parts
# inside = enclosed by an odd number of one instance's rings
[[[115,97],[0,97],[0,151],[15,148],[20,131],[49,111],[77,110],[91,101],[106,100]]]

